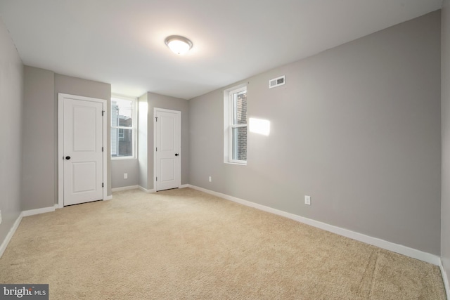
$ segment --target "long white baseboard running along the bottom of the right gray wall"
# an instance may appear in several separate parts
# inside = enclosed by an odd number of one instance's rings
[[[247,200],[239,199],[239,198],[232,197],[232,196],[229,196],[229,195],[226,195],[226,194],[217,193],[217,192],[214,192],[213,190],[207,190],[205,188],[200,188],[200,187],[195,186],[195,185],[189,185],[189,187],[193,188],[195,190],[200,190],[200,191],[202,191],[204,193],[208,193],[208,194],[211,194],[211,195],[214,195],[214,196],[217,196],[217,197],[224,198],[226,200],[230,200],[230,201],[233,201],[233,202],[237,202],[237,203],[243,204],[243,205],[248,206],[248,207],[253,207],[255,209],[260,209],[262,211],[267,211],[267,212],[270,212],[272,214],[278,214],[279,216],[284,216],[284,217],[286,217],[288,219],[292,219],[292,220],[295,220],[295,221],[298,221],[298,222],[301,222],[301,223],[305,223],[307,225],[314,226],[316,228],[321,228],[323,230],[330,231],[331,233],[336,233],[338,235],[343,235],[343,236],[349,237],[349,238],[351,238],[353,240],[358,240],[360,242],[365,242],[366,244],[372,244],[373,246],[377,246],[377,247],[380,247],[380,248],[383,248],[383,249],[390,250],[392,252],[397,252],[399,254],[410,256],[413,259],[419,259],[420,261],[425,261],[427,263],[432,263],[432,264],[434,264],[436,266],[439,266],[439,263],[440,263],[440,257],[435,255],[435,254],[422,252],[420,250],[413,249],[413,248],[410,248],[410,247],[406,247],[406,246],[403,246],[401,244],[395,244],[393,242],[387,242],[387,241],[381,240],[381,239],[379,239],[377,237],[371,237],[371,236],[368,236],[368,235],[364,235],[362,233],[356,233],[356,232],[354,232],[352,230],[348,230],[348,229],[340,228],[338,226],[329,225],[327,223],[323,223],[323,222],[320,222],[320,221],[304,218],[303,216],[298,216],[296,214],[290,214],[290,213],[285,212],[285,211],[281,211],[281,210],[278,210],[278,209],[273,209],[271,207],[266,207],[266,206],[264,206],[262,204],[257,204],[255,202],[250,202],[250,201],[247,201]]]

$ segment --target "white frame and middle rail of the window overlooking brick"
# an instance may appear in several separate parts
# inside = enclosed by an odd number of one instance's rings
[[[224,91],[224,163],[225,164],[239,164],[245,166],[246,160],[233,159],[233,128],[248,127],[245,125],[233,125],[233,93],[247,90],[247,84],[240,84],[233,86],[230,89]]]

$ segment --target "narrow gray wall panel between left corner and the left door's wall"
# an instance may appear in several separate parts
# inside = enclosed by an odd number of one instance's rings
[[[25,66],[22,209],[53,207],[55,169],[55,74]]]

